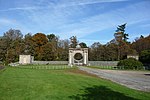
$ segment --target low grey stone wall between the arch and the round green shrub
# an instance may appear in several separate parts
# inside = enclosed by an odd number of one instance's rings
[[[117,66],[118,61],[89,61],[90,66]]]

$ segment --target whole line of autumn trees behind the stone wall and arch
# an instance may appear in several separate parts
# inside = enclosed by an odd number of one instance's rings
[[[126,58],[127,55],[141,55],[141,61],[147,59],[149,63],[150,35],[141,36],[134,42],[129,42],[129,35],[125,33],[126,24],[119,25],[114,33],[114,39],[106,44],[99,42],[89,46],[89,60],[115,61]],[[76,36],[70,39],[60,39],[55,34],[31,33],[23,36],[20,30],[10,29],[0,37],[0,62],[11,63],[18,61],[19,55],[30,54],[35,60],[66,61],[68,49],[79,44],[82,48],[87,45],[79,43]],[[146,58],[145,58],[146,57]],[[145,61],[145,60],[144,60]]]

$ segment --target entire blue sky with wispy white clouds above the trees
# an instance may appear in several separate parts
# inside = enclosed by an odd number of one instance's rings
[[[9,29],[105,44],[118,25],[129,41],[150,34],[150,0],[0,0],[0,36]]]

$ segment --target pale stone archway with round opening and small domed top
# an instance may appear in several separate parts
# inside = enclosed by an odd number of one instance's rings
[[[69,48],[69,65],[88,65],[88,48]]]

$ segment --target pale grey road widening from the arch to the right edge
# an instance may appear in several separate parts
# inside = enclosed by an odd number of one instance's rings
[[[79,69],[132,89],[150,92],[150,71],[102,70],[82,66]]]

